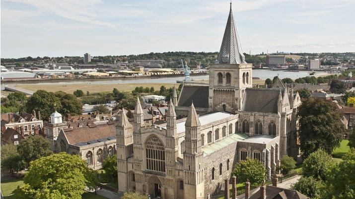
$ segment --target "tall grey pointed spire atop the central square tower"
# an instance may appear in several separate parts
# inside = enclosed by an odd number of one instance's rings
[[[238,32],[235,28],[232,2],[230,2],[229,16],[227,25],[225,26],[222,45],[218,54],[218,63],[241,64],[246,63],[242,47],[238,37]]]

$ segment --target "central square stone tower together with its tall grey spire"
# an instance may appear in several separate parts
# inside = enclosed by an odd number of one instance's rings
[[[252,85],[252,64],[245,62],[230,3],[218,58],[210,66],[209,111],[240,110],[245,89]]]

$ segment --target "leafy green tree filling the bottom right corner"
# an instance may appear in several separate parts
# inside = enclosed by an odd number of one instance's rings
[[[325,198],[355,198],[355,149],[343,155],[342,159],[343,161],[328,173]]]

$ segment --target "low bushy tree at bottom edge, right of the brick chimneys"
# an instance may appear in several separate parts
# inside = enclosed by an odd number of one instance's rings
[[[322,195],[322,181],[316,180],[312,176],[302,176],[298,182],[291,185],[291,189],[308,196],[311,199],[320,199]]]

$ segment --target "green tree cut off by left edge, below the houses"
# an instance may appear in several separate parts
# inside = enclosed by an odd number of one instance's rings
[[[15,145],[1,145],[1,168],[9,171],[12,175],[14,172],[24,169],[24,165]]]

